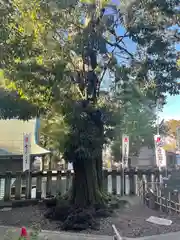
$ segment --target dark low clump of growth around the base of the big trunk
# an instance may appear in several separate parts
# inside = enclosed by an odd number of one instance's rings
[[[115,196],[99,192],[98,197],[103,201],[97,202],[94,206],[81,208],[73,205],[67,194],[58,196],[56,202],[53,200],[46,203],[49,209],[45,216],[60,221],[62,230],[81,231],[88,228],[98,230],[100,226],[98,219],[109,217],[113,209],[120,206],[120,199]]]

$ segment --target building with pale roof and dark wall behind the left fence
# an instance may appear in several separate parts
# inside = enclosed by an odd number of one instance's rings
[[[34,163],[41,165],[43,157],[50,151],[40,147],[37,142],[36,119],[21,121],[18,119],[0,120],[0,172],[23,170],[23,135],[31,133],[31,170]],[[40,157],[39,159],[37,157]],[[41,162],[40,162],[41,161]]]

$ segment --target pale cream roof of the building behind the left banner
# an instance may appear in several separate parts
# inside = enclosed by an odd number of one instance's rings
[[[36,119],[0,120],[0,156],[22,156],[23,136],[31,133],[31,154],[38,156],[50,153],[36,143]]]

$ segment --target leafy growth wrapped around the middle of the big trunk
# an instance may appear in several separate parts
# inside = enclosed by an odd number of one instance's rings
[[[102,146],[113,138],[115,124],[113,120],[117,110],[115,110],[114,103],[102,95],[96,107],[86,106],[86,103],[86,101],[69,101],[68,105],[60,109],[58,105],[53,105],[52,112],[46,119],[41,119],[41,144],[48,149],[53,149],[57,156],[63,156],[65,149],[66,154],[68,152],[73,154],[75,151],[72,150],[73,147],[76,151],[84,148],[91,158],[95,157],[96,147]],[[104,125],[102,126],[104,134],[99,133],[99,125],[96,125],[98,121],[100,125]],[[69,147],[71,151],[67,150]],[[70,159],[74,158],[71,156]],[[66,160],[68,160],[67,156]]]

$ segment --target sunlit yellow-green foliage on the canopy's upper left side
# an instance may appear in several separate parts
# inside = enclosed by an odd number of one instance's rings
[[[68,79],[64,81],[69,63],[66,48],[60,47],[58,37],[54,37],[64,22],[61,13],[60,20],[56,20],[58,16],[50,10],[41,1],[13,1],[6,19],[2,18],[6,29],[1,41],[5,52],[1,56],[4,73],[40,110],[47,110],[52,102],[64,99],[69,88]]]

